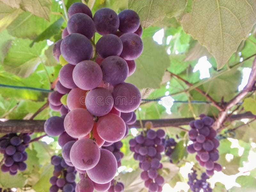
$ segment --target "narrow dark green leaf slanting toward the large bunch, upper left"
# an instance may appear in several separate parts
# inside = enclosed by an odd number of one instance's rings
[[[60,17],[60,19],[52,23],[52,25],[50,25],[39,36],[37,36],[36,39],[34,39],[34,41],[29,46],[32,47],[35,42],[39,42],[44,39],[51,38],[53,35],[55,35],[60,31],[60,28],[63,22],[64,22],[63,18]]]

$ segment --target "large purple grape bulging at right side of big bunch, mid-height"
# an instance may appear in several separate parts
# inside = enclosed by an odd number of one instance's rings
[[[121,83],[112,92],[114,107],[121,112],[128,113],[140,106],[141,95],[137,87],[129,83]]]

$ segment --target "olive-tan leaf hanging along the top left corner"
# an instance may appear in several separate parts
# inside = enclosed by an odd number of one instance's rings
[[[50,20],[51,13],[51,0],[2,0],[5,4],[9,5],[12,8],[22,9],[23,11],[28,11],[33,13],[36,16],[42,17],[46,20]]]

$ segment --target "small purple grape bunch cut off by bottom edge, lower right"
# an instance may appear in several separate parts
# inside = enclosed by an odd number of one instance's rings
[[[203,190],[204,192],[212,192],[210,188],[210,183],[206,180],[209,179],[206,173],[202,173],[201,179],[197,179],[196,170],[192,169],[191,173],[188,173],[188,185],[193,192],[198,192]]]

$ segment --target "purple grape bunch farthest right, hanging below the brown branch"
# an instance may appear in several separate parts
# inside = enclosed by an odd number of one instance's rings
[[[212,176],[215,171],[221,171],[221,166],[215,163],[219,159],[217,148],[220,142],[215,139],[217,132],[212,128],[214,123],[211,117],[200,115],[200,119],[189,123],[191,130],[188,132],[189,139],[193,144],[187,148],[188,153],[197,153],[196,160],[205,167],[206,174]]]

